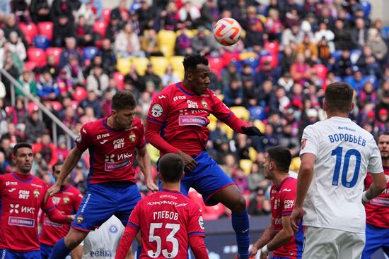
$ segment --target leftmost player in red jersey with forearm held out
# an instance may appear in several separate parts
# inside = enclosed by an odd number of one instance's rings
[[[63,215],[52,198],[45,202],[45,181],[30,174],[33,147],[18,143],[13,147],[16,171],[0,175],[0,258],[40,259],[37,215],[41,208],[52,222],[71,222],[74,215]]]

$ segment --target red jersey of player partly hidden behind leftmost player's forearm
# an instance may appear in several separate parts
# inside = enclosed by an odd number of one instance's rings
[[[58,193],[52,196],[52,203],[57,207],[57,210],[65,215],[76,214],[82,200],[83,196],[81,192],[69,184],[63,186]],[[42,231],[40,232],[39,241],[45,245],[54,246],[59,239],[66,236],[70,224],[52,222],[46,214],[42,218]]]

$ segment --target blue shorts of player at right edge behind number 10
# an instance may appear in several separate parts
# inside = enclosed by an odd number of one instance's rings
[[[366,223],[366,243],[362,259],[370,259],[376,251],[382,248],[389,256],[389,229],[374,227]]]

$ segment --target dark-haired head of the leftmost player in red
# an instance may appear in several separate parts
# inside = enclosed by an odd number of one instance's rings
[[[12,161],[18,172],[27,174],[33,166],[33,147],[28,143],[18,143],[13,147]]]

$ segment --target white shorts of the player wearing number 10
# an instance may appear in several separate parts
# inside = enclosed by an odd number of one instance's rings
[[[360,259],[365,234],[336,229],[306,227],[303,259]]]

